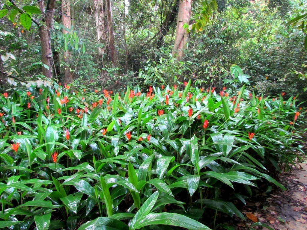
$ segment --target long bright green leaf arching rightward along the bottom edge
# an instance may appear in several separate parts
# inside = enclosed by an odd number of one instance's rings
[[[151,213],[135,222],[130,230],[140,229],[148,225],[167,224],[193,230],[210,230],[206,225],[177,213]]]

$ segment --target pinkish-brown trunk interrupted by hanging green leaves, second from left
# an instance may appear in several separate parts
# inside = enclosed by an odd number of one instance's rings
[[[70,19],[70,1],[69,0],[62,0],[62,23],[63,23],[63,33],[69,33],[66,29],[71,28],[71,19]],[[65,63],[65,78],[64,83],[72,83],[73,82],[73,75],[71,71],[71,57],[72,52],[68,50],[64,50],[64,63]]]

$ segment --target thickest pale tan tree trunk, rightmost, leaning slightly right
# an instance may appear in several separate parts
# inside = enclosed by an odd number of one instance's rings
[[[191,16],[192,0],[180,0],[177,18],[177,28],[172,55],[177,54],[177,60],[181,60],[184,50],[187,49],[188,33],[183,28],[184,24],[189,24]]]

